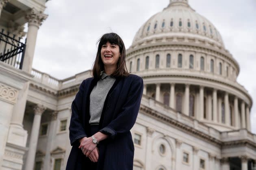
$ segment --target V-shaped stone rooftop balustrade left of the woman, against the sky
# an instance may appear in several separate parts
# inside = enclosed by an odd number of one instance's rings
[[[35,82],[60,90],[63,88],[80,84],[82,80],[87,79],[88,77],[91,77],[91,70],[78,73],[75,76],[68,77],[67,79],[63,79],[63,80],[56,79],[50,76],[49,74],[40,72],[36,69],[33,69],[31,74],[34,76],[33,80]]]

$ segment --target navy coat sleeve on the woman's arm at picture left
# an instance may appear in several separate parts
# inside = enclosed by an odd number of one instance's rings
[[[85,80],[80,85],[79,91],[76,94],[76,98],[74,99],[71,105],[72,115],[71,115],[70,125],[69,125],[69,139],[70,139],[71,146],[73,146],[74,142],[76,142],[77,139],[87,137],[87,134],[85,134],[85,129],[83,127],[83,123],[81,122],[84,89],[85,89]]]

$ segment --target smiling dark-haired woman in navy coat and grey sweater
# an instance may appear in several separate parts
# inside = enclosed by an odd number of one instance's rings
[[[128,73],[117,34],[104,34],[98,44],[93,78],[82,82],[72,102],[66,170],[131,170],[130,129],[139,112],[143,80]]]

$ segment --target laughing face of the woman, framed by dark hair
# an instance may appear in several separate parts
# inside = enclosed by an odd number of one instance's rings
[[[118,59],[121,55],[119,46],[115,44],[111,44],[109,42],[102,45],[100,54],[101,54],[102,62],[104,63],[104,67],[109,67],[109,66],[116,67]]]

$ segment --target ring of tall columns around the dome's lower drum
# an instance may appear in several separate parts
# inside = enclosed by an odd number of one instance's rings
[[[147,84],[145,81],[143,93],[184,115],[209,125],[218,124],[223,131],[230,128],[251,130],[249,105],[227,91],[187,83]]]

